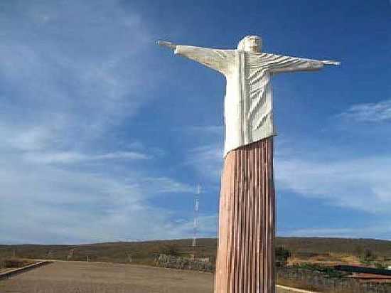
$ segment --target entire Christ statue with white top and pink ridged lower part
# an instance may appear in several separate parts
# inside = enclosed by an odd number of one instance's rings
[[[259,36],[245,36],[236,50],[158,44],[217,70],[227,80],[215,292],[275,292],[276,131],[270,80],[277,73],[340,63],[262,53]]]

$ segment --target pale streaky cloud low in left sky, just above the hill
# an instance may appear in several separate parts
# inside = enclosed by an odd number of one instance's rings
[[[0,242],[86,243],[181,238],[169,209],[152,207],[161,193],[194,191],[173,179],[127,170],[61,170],[51,165],[1,159]],[[126,175],[126,176],[125,176]],[[186,234],[188,235],[188,234]]]

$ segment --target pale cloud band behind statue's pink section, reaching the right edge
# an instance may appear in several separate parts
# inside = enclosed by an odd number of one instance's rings
[[[336,152],[328,153],[325,159],[314,159],[319,158],[318,149],[314,151],[294,149],[291,143],[277,149],[277,191],[294,191],[334,206],[369,213],[391,210],[390,156],[348,157]],[[217,184],[223,167],[222,150],[214,144],[193,149],[188,164]]]

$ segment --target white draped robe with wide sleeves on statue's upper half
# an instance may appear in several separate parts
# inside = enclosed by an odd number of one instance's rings
[[[272,75],[323,67],[318,60],[243,50],[176,46],[175,53],[225,75],[224,156],[232,149],[276,134],[270,84]]]

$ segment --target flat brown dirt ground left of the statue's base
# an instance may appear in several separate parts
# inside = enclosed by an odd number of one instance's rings
[[[212,293],[213,274],[105,262],[53,262],[1,280],[0,292]]]

